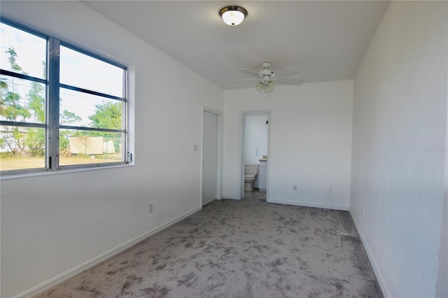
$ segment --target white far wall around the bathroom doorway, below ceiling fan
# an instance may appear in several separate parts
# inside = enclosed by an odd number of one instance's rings
[[[353,80],[226,90],[223,197],[240,199],[242,113],[270,111],[269,201],[349,208]],[[293,191],[293,185],[297,190]]]

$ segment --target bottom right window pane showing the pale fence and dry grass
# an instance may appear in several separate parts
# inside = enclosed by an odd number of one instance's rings
[[[59,131],[59,165],[124,161],[124,134],[76,129]]]

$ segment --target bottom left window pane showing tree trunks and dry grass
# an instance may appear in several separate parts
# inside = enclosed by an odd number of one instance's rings
[[[0,127],[0,170],[45,167],[45,129]]]

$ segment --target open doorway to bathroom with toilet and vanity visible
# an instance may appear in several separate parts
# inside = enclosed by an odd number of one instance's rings
[[[241,181],[242,190],[246,194],[250,194],[250,192],[269,192],[267,186],[269,112],[244,113],[242,136],[243,159],[241,170],[244,173],[244,181]],[[255,178],[253,178],[253,175],[255,175]]]

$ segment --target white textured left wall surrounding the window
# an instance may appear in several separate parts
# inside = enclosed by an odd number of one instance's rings
[[[223,111],[224,92],[78,1],[2,1],[1,15],[131,66],[135,78],[134,166],[2,178],[0,295],[11,297],[199,210],[193,146],[202,148],[202,106]]]

